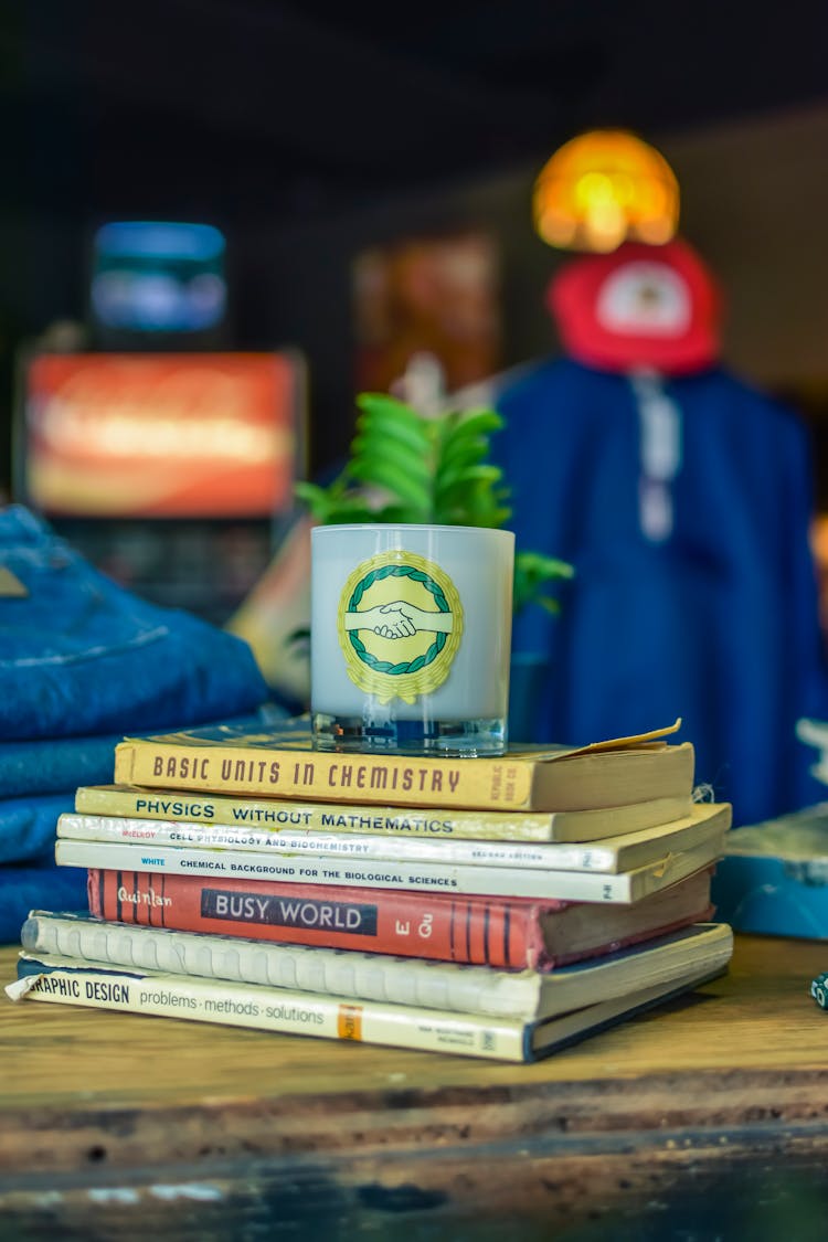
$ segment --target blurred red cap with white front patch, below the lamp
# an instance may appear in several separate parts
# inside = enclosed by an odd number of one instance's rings
[[[624,242],[611,255],[571,260],[551,279],[546,306],[566,351],[600,370],[649,366],[678,375],[720,354],[719,287],[679,238]]]

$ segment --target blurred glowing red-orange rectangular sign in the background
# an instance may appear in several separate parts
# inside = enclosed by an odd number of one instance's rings
[[[269,517],[302,468],[298,355],[41,354],[22,491],[47,515]]]

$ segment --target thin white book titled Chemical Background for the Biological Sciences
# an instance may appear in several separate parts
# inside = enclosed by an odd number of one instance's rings
[[[574,902],[638,902],[714,862],[722,851],[730,805],[721,802],[705,835],[686,850],[662,852],[641,867],[616,874],[587,871],[538,871],[529,867],[485,867],[477,863],[420,862],[410,858],[361,858],[320,853],[279,853],[161,846],[156,842],[74,841],[58,837],[55,858],[61,867],[103,867],[107,871],[160,871],[186,876],[254,876],[281,886],[356,886],[492,897],[562,898]]]

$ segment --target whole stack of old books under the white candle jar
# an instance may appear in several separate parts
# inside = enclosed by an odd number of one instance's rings
[[[665,730],[669,733],[670,730]],[[323,753],[307,720],[127,739],[78,789],[12,999],[530,1061],[726,970],[730,806],[664,734],[492,759]]]

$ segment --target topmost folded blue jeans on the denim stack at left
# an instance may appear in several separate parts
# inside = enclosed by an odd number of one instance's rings
[[[0,739],[164,729],[250,712],[268,697],[241,638],[140,600],[22,505],[0,512]]]

